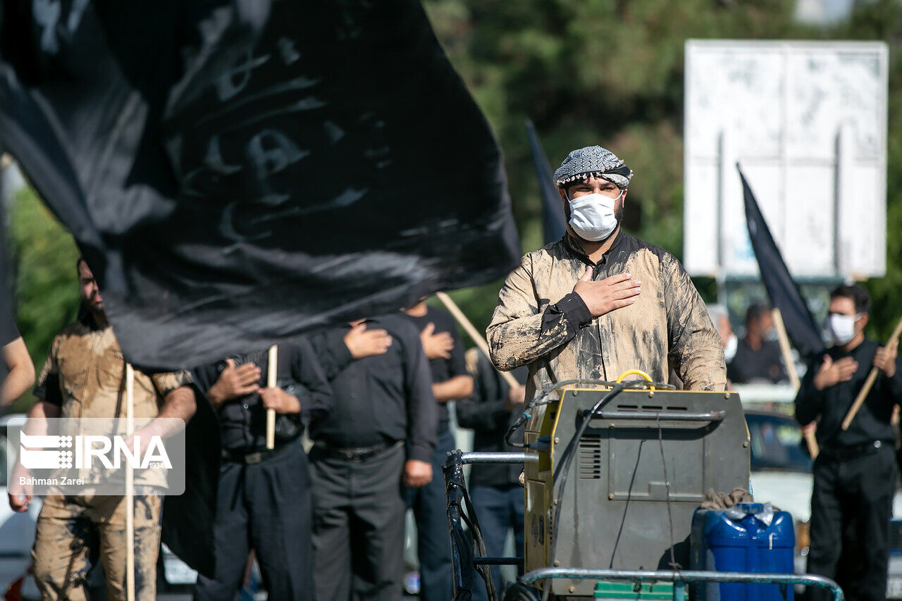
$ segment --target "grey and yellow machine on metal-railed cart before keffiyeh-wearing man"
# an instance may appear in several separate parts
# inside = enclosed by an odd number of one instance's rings
[[[622,374],[620,380],[630,371]],[[749,430],[736,393],[675,391],[649,382],[562,382],[529,402],[522,453],[448,454],[455,601],[469,601],[474,570],[498,598],[489,566],[526,573],[504,601],[637,598],[686,601],[703,582],[820,587],[811,574],[690,570],[695,509],[708,491],[749,485]],[[508,432],[511,444],[522,421]],[[519,437],[517,437],[519,438]],[[488,557],[466,491],[464,467],[524,466],[525,558]],[[791,589],[789,589],[791,590]]]

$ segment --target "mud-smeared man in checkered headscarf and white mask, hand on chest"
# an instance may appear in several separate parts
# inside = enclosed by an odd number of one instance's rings
[[[632,171],[589,146],[555,171],[568,226],[523,257],[487,329],[501,370],[529,365],[526,398],[570,379],[613,380],[641,369],[690,390],[724,390],[723,347],[676,258],[622,231]]]

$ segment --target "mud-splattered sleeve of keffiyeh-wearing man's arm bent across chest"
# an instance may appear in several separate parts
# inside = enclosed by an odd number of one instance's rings
[[[592,314],[575,292],[540,312],[533,278],[541,275],[533,273],[532,259],[527,254],[498,293],[498,305],[485,333],[492,363],[502,371],[527,365],[550,353],[592,321]]]

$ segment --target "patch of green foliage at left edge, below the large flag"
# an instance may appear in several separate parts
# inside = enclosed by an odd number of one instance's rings
[[[31,188],[15,195],[10,229],[16,323],[40,373],[53,337],[78,310],[78,249]],[[25,394],[15,409],[32,402]]]

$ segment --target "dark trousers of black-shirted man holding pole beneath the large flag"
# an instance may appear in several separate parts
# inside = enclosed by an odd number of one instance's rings
[[[310,475],[295,440],[280,455],[244,465],[223,460],[216,498],[216,578],[198,575],[198,601],[235,599],[254,550],[273,601],[313,599]]]

